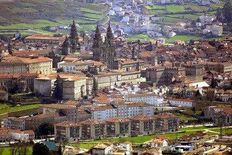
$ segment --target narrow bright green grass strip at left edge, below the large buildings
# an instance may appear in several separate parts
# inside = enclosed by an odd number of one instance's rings
[[[9,105],[9,104],[2,103],[2,104],[0,104],[0,114],[23,111],[23,110],[30,110],[30,109],[36,109],[36,108],[39,108],[39,107],[40,107],[39,104],[12,106],[12,105]]]

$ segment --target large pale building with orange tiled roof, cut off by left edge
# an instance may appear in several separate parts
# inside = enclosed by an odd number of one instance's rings
[[[0,74],[50,74],[52,60],[47,57],[23,58],[5,56],[0,60]]]

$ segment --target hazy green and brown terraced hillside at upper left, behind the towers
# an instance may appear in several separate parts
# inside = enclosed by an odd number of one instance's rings
[[[85,29],[106,20],[107,6],[72,0],[0,0],[0,30],[42,30],[75,19]],[[87,27],[85,25],[88,25]]]

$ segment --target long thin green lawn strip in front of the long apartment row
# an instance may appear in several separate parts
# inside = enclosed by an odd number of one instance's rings
[[[191,127],[191,128],[182,128],[180,129],[179,132],[177,133],[165,133],[165,134],[155,134],[155,135],[146,135],[146,136],[137,136],[137,137],[121,137],[121,138],[108,138],[108,139],[103,139],[103,140],[92,140],[92,141],[86,141],[86,142],[81,142],[78,144],[71,144],[72,146],[84,148],[84,149],[89,149],[93,147],[94,145],[98,143],[103,143],[103,142],[110,142],[110,143],[117,143],[117,142],[131,142],[133,144],[142,144],[144,142],[147,142],[155,137],[162,136],[164,138],[167,138],[169,140],[174,140],[176,138],[181,138],[185,135],[190,135],[190,134],[195,134],[199,131],[217,131],[219,130],[218,127]],[[228,129],[227,129],[228,130]],[[232,129],[229,130],[229,132],[232,132]],[[215,134],[209,132],[210,135]]]

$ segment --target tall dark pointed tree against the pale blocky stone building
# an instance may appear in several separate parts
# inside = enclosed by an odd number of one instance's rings
[[[53,97],[57,100],[63,99],[63,80],[57,75],[56,81],[54,82]]]

